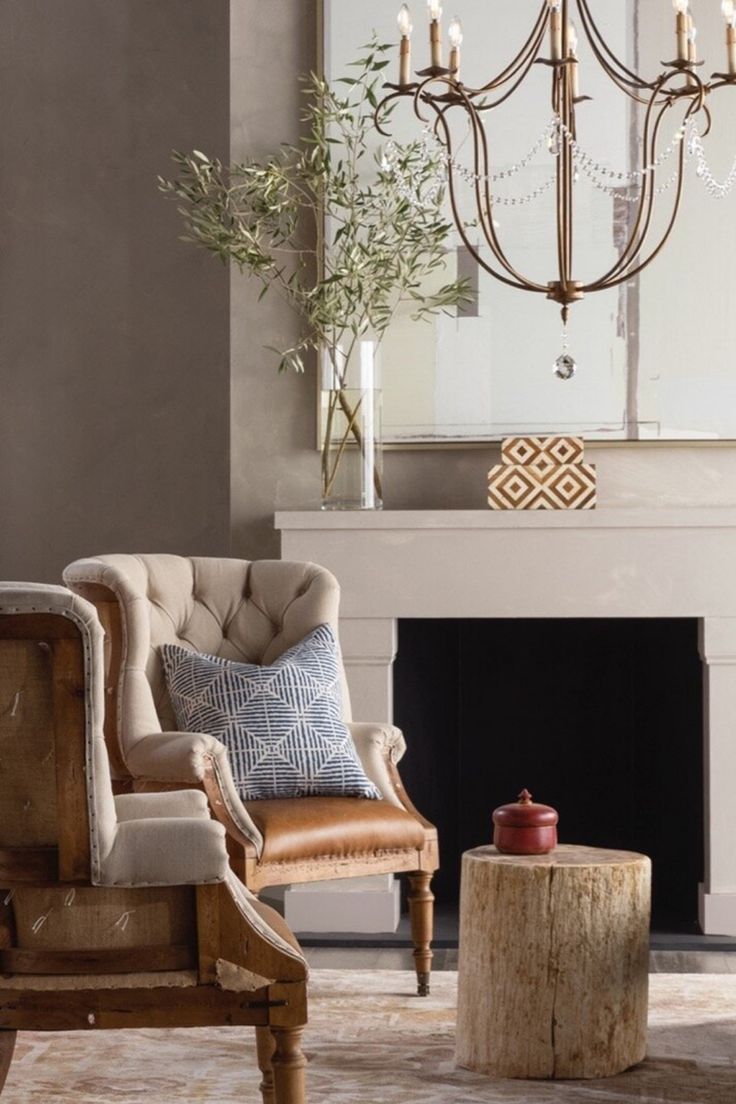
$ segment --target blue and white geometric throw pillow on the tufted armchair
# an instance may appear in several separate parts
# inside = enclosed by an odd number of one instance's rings
[[[343,720],[338,643],[320,625],[260,667],[160,648],[182,731],[226,745],[241,797],[381,797]]]

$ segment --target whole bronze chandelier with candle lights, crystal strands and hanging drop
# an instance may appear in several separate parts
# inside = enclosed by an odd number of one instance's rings
[[[696,28],[690,0],[673,0],[675,11],[676,54],[662,62],[663,71],[652,79],[629,68],[607,44],[593,18],[588,0],[543,0],[542,9],[530,35],[516,56],[497,76],[480,87],[471,87],[460,77],[462,29],[456,18],[449,25],[449,57],[442,57],[440,0],[428,0],[430,64],[412,76],[412,17],[407,4],[398,13],[399,73],[396,84],[385,85],[387,93],[376,109],[376,126],[382,135],[392,102],[406,97],[413,100],[418,119],[425,125],[427,156],[439,155],[446,176],[454,222],[466,248],[476,262],[502,284],[523,291],[544,295],[559,305],[563,319],[563,353],[555,361],[555,372],[569,379],[576,364],[569,355],[567,320],[569,308],[594,291],[605,291],[638,276],[660,254],[670,237],[681,206],[684,170],[694,159],[696,173],[708,193],[723,198],[736,184],[736,160],[725,179],[716,180],[710,169],[702,139],[711,129],[707,99],[719,88],[736,85],[736,2],[723,0],[721,8],[726,22],[725,73],[715,73],[706,81],[698,70]],[[641,105],[641,141],[638,161],[629,171],[611,171],[587,153],[578,139],[578,109],[589,97],[582,95],[578,61],[578,31],[587,40],[595,62],[611,83],[634,104]],[[552,81],[552,117],[535,146],[519,162],[498,169],[497,151],[489,130],[493,112],[505,104],[522,85],[535,65],[548,67]],[[675,114],[676,113],[676,114]],[[460,114],[467,120],[469,157],[457,157],[454,149],[452,125]],[[579,112],[583,116],[583,110]],[[668,145],[662,134],[671,134],[665,120],[675,115],[676,128]],[[665,135],[666,138],[666,135]],[[516,176],[546,145],[554,156],[554,172],[532,192],[510,198],[497,192],[500,181]],[[386,150],[390,167],[398,171],[396,148]],[[668,176],[662,179],[663,172]],[[595,188],[616,195],[630,205],[631,217],[617,258],[609,261],[593,279],[576,278],[575,185],[580,173]],[[469,223],[460,211],[461,182],[471,190],[473,217]],[[407,199],[412,182],[403,182]],[[494,213],[502,205],[523,205],[554,189],[554,236],[556,253],[552,279],[541,283],[520,272],[501,243]],[[663,214],[660,214],[663,209]],[[481,241],[473,241],[470,225]],[[488,246],[490,257],[481,254]]]

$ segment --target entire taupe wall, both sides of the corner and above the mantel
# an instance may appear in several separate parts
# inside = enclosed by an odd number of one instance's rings
[[[296,321],[177,240],[171,147],[299,129],[312,0],[0,0],[0,577],[99,551],[278,554],[316,506]],[[230,57],[232,55],[232,65]],[[232,102],[231,102],[232,100]],[[391,453],[386,507],[484,506],[493,448]],[[736,501],[736,449],[599,448],[602,505]]]

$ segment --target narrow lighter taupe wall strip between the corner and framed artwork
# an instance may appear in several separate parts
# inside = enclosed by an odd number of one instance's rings
[[[297,74],[313,68],[312,0],[233,0],[232,156],[259,157],[299,136]],[[314,370],[282,374],[264,346],[286,348],[298,320],[269,293],[237,273],[231,284],[233,551],[278,555],[275,508],[319,505],[314,449]]]

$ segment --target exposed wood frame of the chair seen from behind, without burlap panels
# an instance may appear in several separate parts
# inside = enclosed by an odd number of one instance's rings
[[[20,585],[20,584],[13,584]],[[4,641],[38,641],[47,651],[53,686],[53,754],[58,831],[55,843],[43,847],[0,847],[0,1092],[10,1068],[18,1031],[108,1030],[110,1028],[172,1028],[253,1026],[263,1074],[264,1104],[303,1104],[306,1060],[300,1038],[307,1021],[307,967],[285,922],[259,902],[248,902],[255,924],[244,919],[238,889],[225,881],[195,884],[195,938],[185,945],[121,947],[120,949],[40,949],[17,946],[12,904],[6,895],[30,887],[93,885],[90,866],[92,786],[85,747],[86,684],[89,654],[75,612],[87,618],[94,609],[68,595],[64,613],[46,612],[39,591],[36,612],[9,612],[0,588],[0,647]],[[47,603],[46,603],[47,604]],[[52,603],[53,606],[53,603]],[[86,607],[86,609],[85,609]],[[96,618],[95,618],[96,619]],[[0,716],[0,734],[2,718]],[[85,766],[86,764],[86,766]],[[103,781],[104,782],[104,781]],[[109,785],[109,778],[107,779]],[[184,795],[188,796],[188,795]],[[207,826],[207,818],[202,803]],[[224,834],[223,834],[224,835]],[[160,883],[159,883],[160,884]],[[276,933],[269,938],[268,933]],[[288,946],[287,946],[288,944]],[[289,948],[294,948],[292,953]],[[218,983],[220,963],[231,963],[264,984],[247,990],[225,989]],[[194,984],[168,987],[164,972],[196,973]],[[161,972],[161,985],[85,987],[85,978]],[[8,977],[15,983],[9,986]],[[76,975],[78,988],[34,988],[33,977]]]

